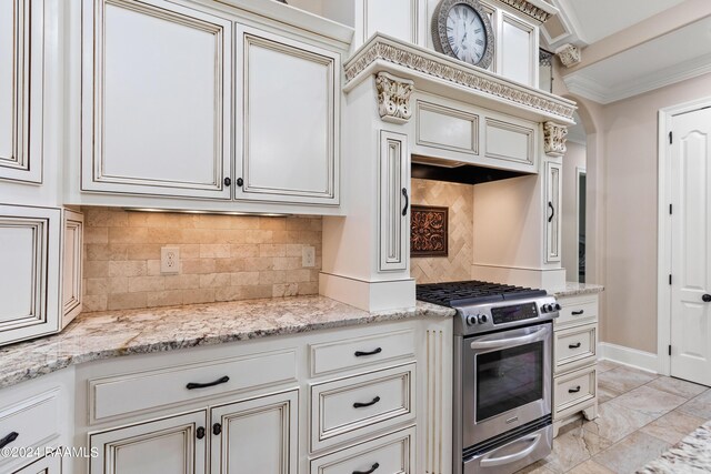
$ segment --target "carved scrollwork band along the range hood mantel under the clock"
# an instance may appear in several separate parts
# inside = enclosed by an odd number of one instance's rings
[[[375,61],[384,61],[399,69],[409,69],[429,79],[439,79],[463,85],[472,92],[483,92],[492,99],[507,100],[543,113],[572,121],[574,102],[558,99],[537,89],[527,88],[500,78],[491,72],[468,64],[460,64],[441,54],[420,47],[407,44],[393,38],[373,36],[353,58],[344,64],[346,87]]]

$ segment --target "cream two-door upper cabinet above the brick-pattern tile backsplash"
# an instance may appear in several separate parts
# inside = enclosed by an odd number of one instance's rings
[[[227,3],[83,0],[82,21],[70,203],[338,212],[343,43]]]

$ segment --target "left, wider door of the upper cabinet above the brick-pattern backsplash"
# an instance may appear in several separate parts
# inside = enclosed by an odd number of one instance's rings
[[[82,190],[229,199],[231,23],[84,0]]]

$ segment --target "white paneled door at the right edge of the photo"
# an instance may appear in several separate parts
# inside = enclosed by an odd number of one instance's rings
[[[711,109],[672,133],[671,374],[711,385]]]

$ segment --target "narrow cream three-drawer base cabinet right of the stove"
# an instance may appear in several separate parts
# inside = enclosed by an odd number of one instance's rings
[[[598,416],[598,295],[560,296],[553,321],[553,430]]]

